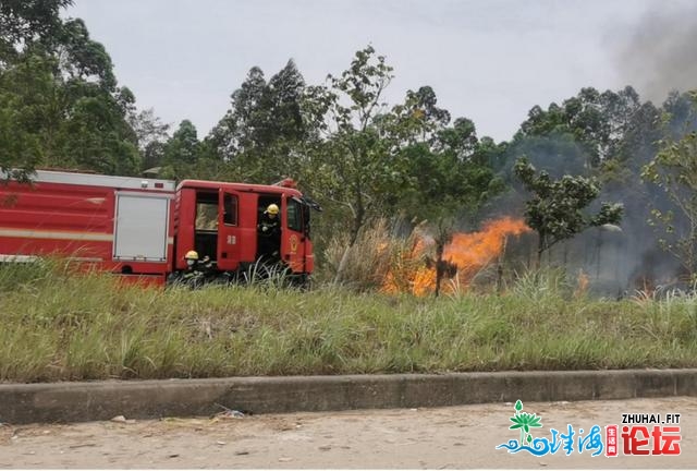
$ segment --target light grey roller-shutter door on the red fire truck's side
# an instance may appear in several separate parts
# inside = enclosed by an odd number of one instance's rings
[[[169,196],[117,193],[114,259],[164,262],[169,207]]]

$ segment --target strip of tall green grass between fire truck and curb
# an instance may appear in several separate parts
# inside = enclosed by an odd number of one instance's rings
[[[697,366],[694,294],[591,300],[553,274],[435,299],[70,271],[0,267],[0,381]]]

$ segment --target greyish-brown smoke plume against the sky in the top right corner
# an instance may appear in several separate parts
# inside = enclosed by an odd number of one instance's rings
[[[644,98],[661,102],[671,90],[697,88],[697,3],[660,2],[615,44],[621,78]]]

